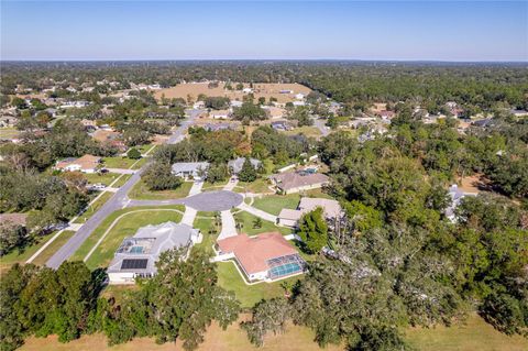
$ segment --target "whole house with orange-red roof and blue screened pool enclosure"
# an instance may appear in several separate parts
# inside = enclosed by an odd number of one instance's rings
[[[306,270],[297,250],[278,232],[226,238],[217,242],[216,250],[215,261],[234,259],[249,282],[273,282]]]

